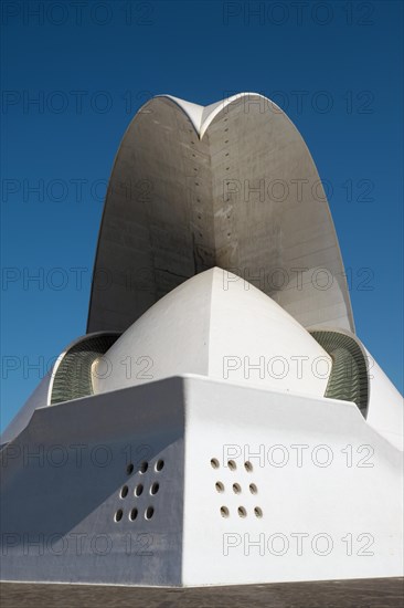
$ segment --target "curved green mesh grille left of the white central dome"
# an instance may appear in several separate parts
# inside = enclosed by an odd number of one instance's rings
[[[92,365],[97,357],[113,346],[118,337],[117,334],[93,336],[72,346],[56,370],[51,403],[93,395]]]

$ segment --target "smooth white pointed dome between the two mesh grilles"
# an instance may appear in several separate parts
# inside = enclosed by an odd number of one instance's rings
[[[151,306],[93,366],[94,394],[196,374],[323,397],[332,368],[327,352],[253,285],[223,289],[225,274],[202,272]]]

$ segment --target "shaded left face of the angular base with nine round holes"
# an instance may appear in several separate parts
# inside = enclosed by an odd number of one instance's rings
[[[1,451],[4,580],[180,585],[182,382],[36,410]]]

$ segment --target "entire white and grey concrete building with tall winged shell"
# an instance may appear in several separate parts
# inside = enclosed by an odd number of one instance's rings
[[[1,439],[1,577],[398,577],[402,406],[354,334],[325,192],[285,114],[255,94],[157,97],[113,169],[88,334]]]

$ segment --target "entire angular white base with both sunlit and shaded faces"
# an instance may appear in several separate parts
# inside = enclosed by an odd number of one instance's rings
[[[196,376],[43,408],[1,452],[1,575],[400,576],[401,455],[353,403]]]

